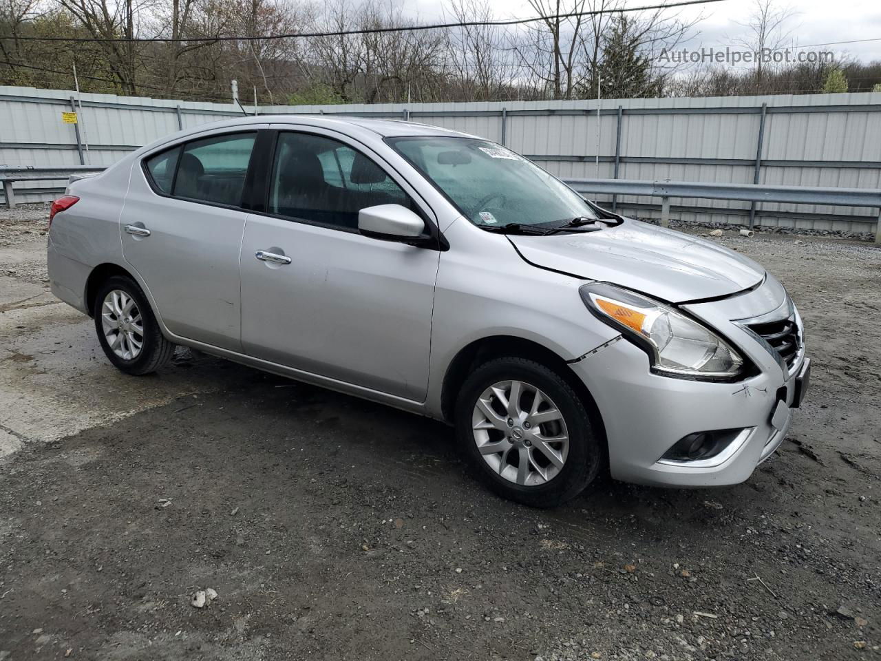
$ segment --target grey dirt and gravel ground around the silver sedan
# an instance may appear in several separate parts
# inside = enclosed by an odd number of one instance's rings
[[[188,352],[116,372],[45,216],[0,210],[0,661],[881,657],[881,249],[714,239],[805,319],[788,441],[740,486],[539,511],[438,423]]]

